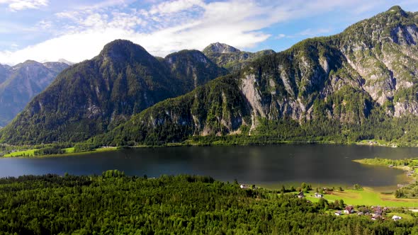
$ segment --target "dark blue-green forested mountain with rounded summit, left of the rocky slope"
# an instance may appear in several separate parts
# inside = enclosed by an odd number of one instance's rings
[[[1,141],[79,142],[226,73],[195,50],[157,59],[140,45],[115,40],[59,74],[1,130]]]

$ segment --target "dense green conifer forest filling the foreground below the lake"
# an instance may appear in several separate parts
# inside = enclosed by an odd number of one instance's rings
[[[4,234],[417,234],[418,220],[337,217],[327,202],[205,176],[0,179]]]

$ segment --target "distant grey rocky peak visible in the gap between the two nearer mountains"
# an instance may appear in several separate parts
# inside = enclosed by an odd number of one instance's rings
[[[203,50],[203,54],[209,59],[230,71],[238,71],[256,58],[274,53],[273,50],[262,50],[255,53],[242,52],[235,47],[220,42],[212,43]]]

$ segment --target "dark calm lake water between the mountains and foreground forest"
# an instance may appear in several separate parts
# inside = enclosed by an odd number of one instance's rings
[[[179,173],[213,176],[217,180],[273,185],[322,183],[380,187],[405,183],[403,171],[363,166],[352,159],[418,156],[418,148],[388,148],[328,144],[281,144],[238,147],[174,147],[123,149],[95,154],[43,159],[0,159],[0,177],[101,174],[108,169],[127,175],[158,177]]]

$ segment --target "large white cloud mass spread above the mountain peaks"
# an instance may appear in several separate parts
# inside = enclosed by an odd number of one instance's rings
[[[109,0],[104,6],[124,2]],[[0,52],[0,63],[60,58],[80,62],[98,55],[106,43],[118,38],[132,40],[157,56],[182,49],[202,50],[211,42],[225,42],[248,49],[270,38],[271,35],[263,30],[275,23],[307,18],[334,11],[335,8],[355,9],[361,2],[227,0],[205,3],[202,0],[176,0],[155,4],[148,10],[70,10],[55,14],[66,22],[62,26],[63,33],[21,50]],[[329,31],[308,29],[298,36],[320,35]],[[275,36],[276,39],[290,37],[284,34]]]

